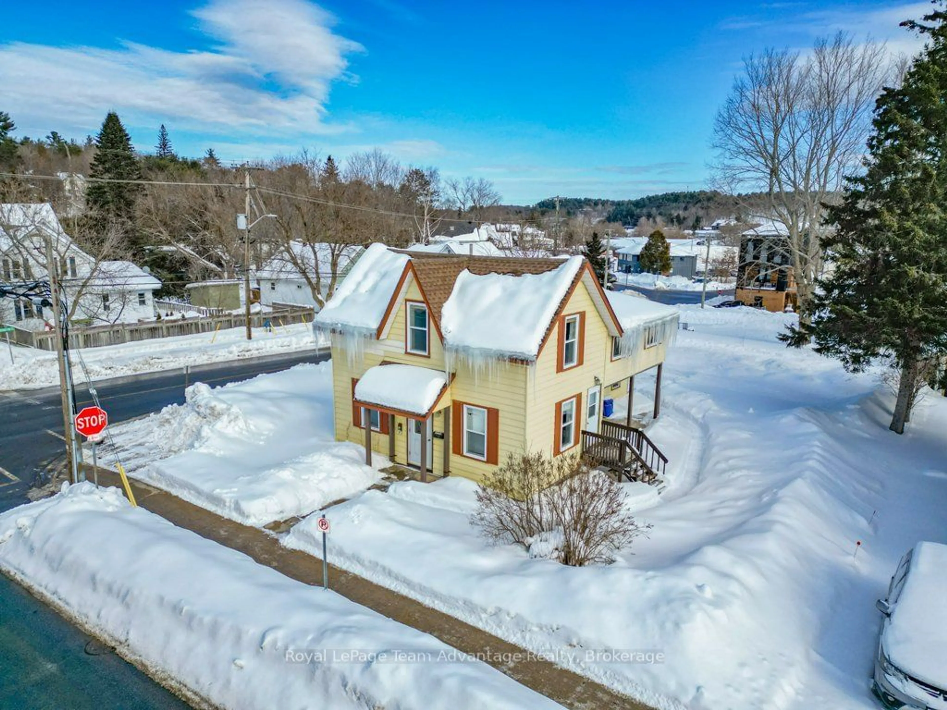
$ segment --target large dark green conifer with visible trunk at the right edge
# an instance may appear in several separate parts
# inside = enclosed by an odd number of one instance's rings
[[[860,371],[884,358],[900,370],[891,431],[910,418],[922,364],[947,353],[947,12],[902,23],[928,36],[899,88],[875,107],[865,174],[829,210],[833,262],[812,323],[782,339]]]

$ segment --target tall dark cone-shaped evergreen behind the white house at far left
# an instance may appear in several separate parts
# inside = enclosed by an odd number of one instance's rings
[[[96,137],[96,157],[92,160],[90,177],[107,180],[140,180],[138,158],[132,149],[132,139],[115,112],[102,121]],[[91,182],[86,191],[86,202],[99,219],[132,222],[134,204],[141,186],[129,183]]]

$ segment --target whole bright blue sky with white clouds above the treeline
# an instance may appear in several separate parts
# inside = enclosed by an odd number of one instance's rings
[[[19,135],[96,133],[241,161],[380,147],[510,203],[706,186],[710,133],[742,57],[846,29],[898,27],[925,2],[166,0],[11,4],[0,110]]]

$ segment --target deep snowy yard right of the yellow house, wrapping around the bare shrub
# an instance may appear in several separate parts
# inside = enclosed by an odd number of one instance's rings
[[[947,401],[893,435],[877,372],[777,343],[793,315],[685,311],[652,428],[670,485],[629,486],[653,529],[616,563],[489,546],[456,478],[333,506],[332,561],[659,707],[870,708],[874,600],[905,550],[947,540]],[[314,516],[285,542],[318,555]]]

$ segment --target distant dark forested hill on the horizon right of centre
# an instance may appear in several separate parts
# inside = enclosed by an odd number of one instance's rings
[[[709,224],[718,217],[740,216],[740,203],[745,204],[747,196],[740,200],[732,195],[724,195],[715,190],[690,190],[686,192],[663,192],[659,195],[647,195],[636,200],[602,200],[599,198],[563,197],[559,200],[560,213],[566,217],[581,212],[594,212],[606,222],[621,222],[634,225],[642,218],[662,219],[669,224],[690,227],[695,219],[701,224]],[[555,210],[556,199],[548,198],[534,205],[542,211]]]

